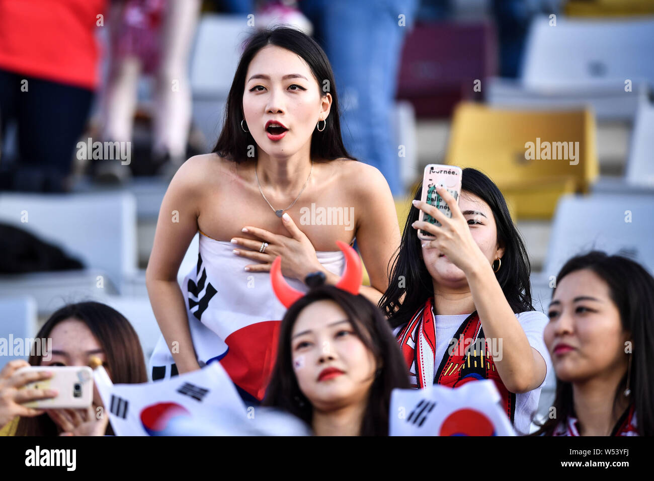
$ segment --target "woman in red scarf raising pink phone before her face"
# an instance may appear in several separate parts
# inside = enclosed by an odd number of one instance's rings
[[[396,328],[413,387],[492,379],[516,431],[526,434],[549,356],[547,317],[532,308],[525,245],[483,173],[463,169],[458,204],[438,193],[451,219],[420,202],[418,188],[380,306]],[[419,222],[419,209],[442,225]],[[421,241],[417,229],[436,238]]]

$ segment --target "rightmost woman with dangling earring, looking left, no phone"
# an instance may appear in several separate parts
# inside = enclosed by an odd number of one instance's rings
[[[556,285],[544,335],[557,395],[535,434],[654,435],[654,278],[594,251],[568,260]]]

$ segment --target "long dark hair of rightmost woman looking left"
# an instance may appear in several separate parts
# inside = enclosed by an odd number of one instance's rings
[[[572,272],[588,269],[601,277],[609,287],[611,300],[620,313],[622,327],[631,332],[632,356],[629,389],[641,436],[654,435],[654,380],[651,376],[651,360],[654,352],[654,277],[640,264],[619,255],[606,255],[591,251],[573,257],[561,268],[557,285]],[[552,293],[556,293],[556,287]],[[601,346],[598,346],[601,348]],[[620,396],[627,385],[628,372],[613,393],[613,410],[619,405]],[[551,435],[560,420],[575,416],[572,399],[572,383],[557,378],[557,391],[553,407],[556,418],[547,419],[534,435]],[[619,413],[613,413],[619,414]]]

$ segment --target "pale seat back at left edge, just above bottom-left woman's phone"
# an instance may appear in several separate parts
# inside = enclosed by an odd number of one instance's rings
[[[4,293],[3,293],[4,294]],[[26,338],[31,340],[37,334],[37,303],[31,296],[15,296],[15,297],[0,297],[0,315],[2,321],[0,322],[0,339],[3,343],[7,343],[7,352],[0,355],[0,370],[9,361],[14,359],[24,359],[27,361],[29,352],[22,351],[17,355],[12,341],[18,338],[23,340],[25,346]],[[11,342],[10,342],[11,341]],[[27,342],[27,349],[30,348],[31,342]]]

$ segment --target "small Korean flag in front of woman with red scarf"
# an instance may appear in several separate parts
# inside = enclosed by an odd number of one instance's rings
[[[500,399],[491,380],[468,382],[455,389],[438,384],[424,389],[394,389],[388,434],[515,436]]]

